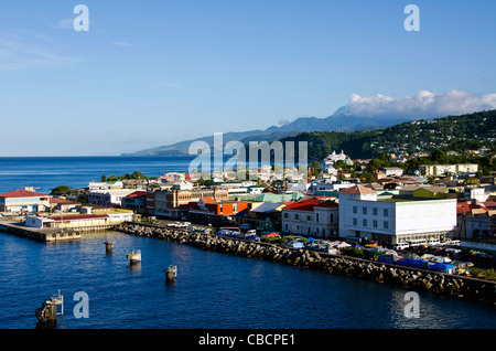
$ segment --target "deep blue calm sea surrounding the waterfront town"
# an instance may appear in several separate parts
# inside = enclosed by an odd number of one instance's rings
[[[106,159],[106,160],[104,160]],[[2,191],[30,182],[83,187],[88,178],[141,170],[181,170],[172,158],[1,159]],[[19,179],[21,178],[21,179]],[[107,254],[105,242],[115,242]],[[140,249],[131,266],[126,254]],[[85,234],[78,242],[44,244],[0,232],[0,329],[41,328],[34,312],[64,295],[58,329],[494,329],[496,308],[420,294],[420,318],[407,318],[408,290],[138,237]],[[165,283],[164,269],[177,266]],[[88,318],[76,318],[77,292],[88,296]],[[76,295],[77,296],[77,295]]]

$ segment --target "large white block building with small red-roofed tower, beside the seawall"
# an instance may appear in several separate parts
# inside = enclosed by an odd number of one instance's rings
[[[377,199],[362,185],[339,192],[339,236],[397,244],[445,241],[456,226],[456,199]]]

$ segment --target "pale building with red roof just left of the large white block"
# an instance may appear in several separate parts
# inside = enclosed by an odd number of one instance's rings
[[[289,203],[282,209],[282,232],[302,236],[330,238],[337,235],[338,203],[311,198]]]

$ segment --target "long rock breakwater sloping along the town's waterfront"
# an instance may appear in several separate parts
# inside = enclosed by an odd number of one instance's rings
[[[144,223],[126,222],[116,226],[116,230],[225,254],[266,259],[301,268],[391,284],[411,290],[430,291],[496,305],[496,283],[471,277]]]

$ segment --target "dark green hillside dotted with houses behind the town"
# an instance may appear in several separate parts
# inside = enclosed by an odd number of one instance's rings
[[[309,142],[309,160],[322,160],[342,149],[353,159],[377,158],[382,153],[411,156],[416,152],[465,152],[486,147],[496,149],[496,110],[421,119],[386,129],[363,131],[301,132],[281,141]]]

